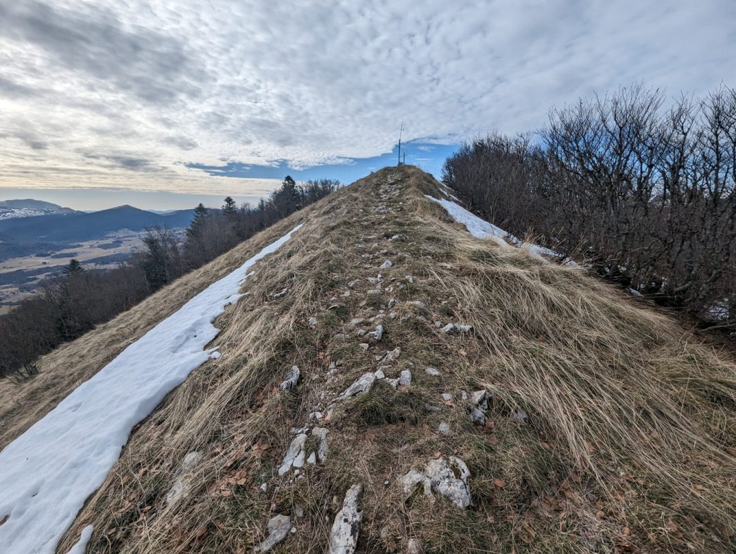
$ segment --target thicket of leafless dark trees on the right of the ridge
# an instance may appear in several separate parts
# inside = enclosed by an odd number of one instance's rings
[[[471,209],[704,320],[736,319],[736,90],[641,85],[489,135],[445,163]]]

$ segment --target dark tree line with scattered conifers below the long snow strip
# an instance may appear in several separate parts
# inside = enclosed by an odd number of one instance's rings
[[[0,377],[23,380],[37,374],[40,355],[132,308],[163,285],[339,186],[335,180],[297,183],[286,177],[258,205],[238,207],[227,196],[219,209],[199,204],[183,233],[164,227],[149,229],[144,249],[114,269],[85,269],[71,260],[38,294],[0,317]]]

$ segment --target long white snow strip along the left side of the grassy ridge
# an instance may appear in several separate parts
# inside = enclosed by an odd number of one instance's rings
[[[0,452],[0,552],[54,553],[132,427],[210,358],[204,347],[219,333],[211,322],[241,296],[250,267],[300,227],[194,296]]]

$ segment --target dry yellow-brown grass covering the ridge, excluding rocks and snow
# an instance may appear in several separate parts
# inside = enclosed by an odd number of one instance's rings
[[[389,180],[398,193],[381,213]],[[311,207],[305,227],[247,280],[250,294],[219,319],[222,358],[197,369],[135,430],[60,552],[90,523],[91,552],[250,552],[281,512],[297,533],[275,551],[322,553],[356,482],[365,488],[364,553],[403,552],[412,537],[427,553],[731,552],[736,367],[581,271],[471,238],[421,193],[439,194],[431,177],[390,168]],[[23,411],[0,408],[0,444],[303,215],[49,355],[45,374],[21,391]],[[388,240],[397,233],[406,241]],[[394,266],[380,271],[383,294],[367,294],[387,258]],[[289,294],[273,299],[285,287]],[[388,313],[391,298],[398,316],[384,320],[383,340],[364,352],[347,322]],[[415,300],[424,308],[407,303]],[[475,333],[446,335],[434,321],[473,324]],[[413,363],[414,383],[392,391],[379,382],[339,403],[322,423],[330,429],[325,464],[300,479],[277,477],[290,427],[305,425],[394,347],[403,353],[388,376]],[[330,361],[342,361],[333,378]],[[292,364],[302,369],[300,386],[280,393]],[[426,366],[442,374],[430,377]],[[461,397],[481,387],[494,398],[489,423],[476,427]],[[445,391],[453,402],[442,401]],[[0,394],[5,406],[9,393]],[[519,409],[524,422],[513,417]],[[450,436],[438,432],[440,421]],[[195,450],[203,456],[191,489],[167,505],[177,468]],[[436,455],[469,466],[467,511],[439,498],[402,502],[400,476]]]

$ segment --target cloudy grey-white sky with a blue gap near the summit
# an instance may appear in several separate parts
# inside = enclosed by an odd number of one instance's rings
[[[735,86],[735,44],[734,0],[3,1],[0,195],[350,180],[402,119],[436,171],[594,90]]]

